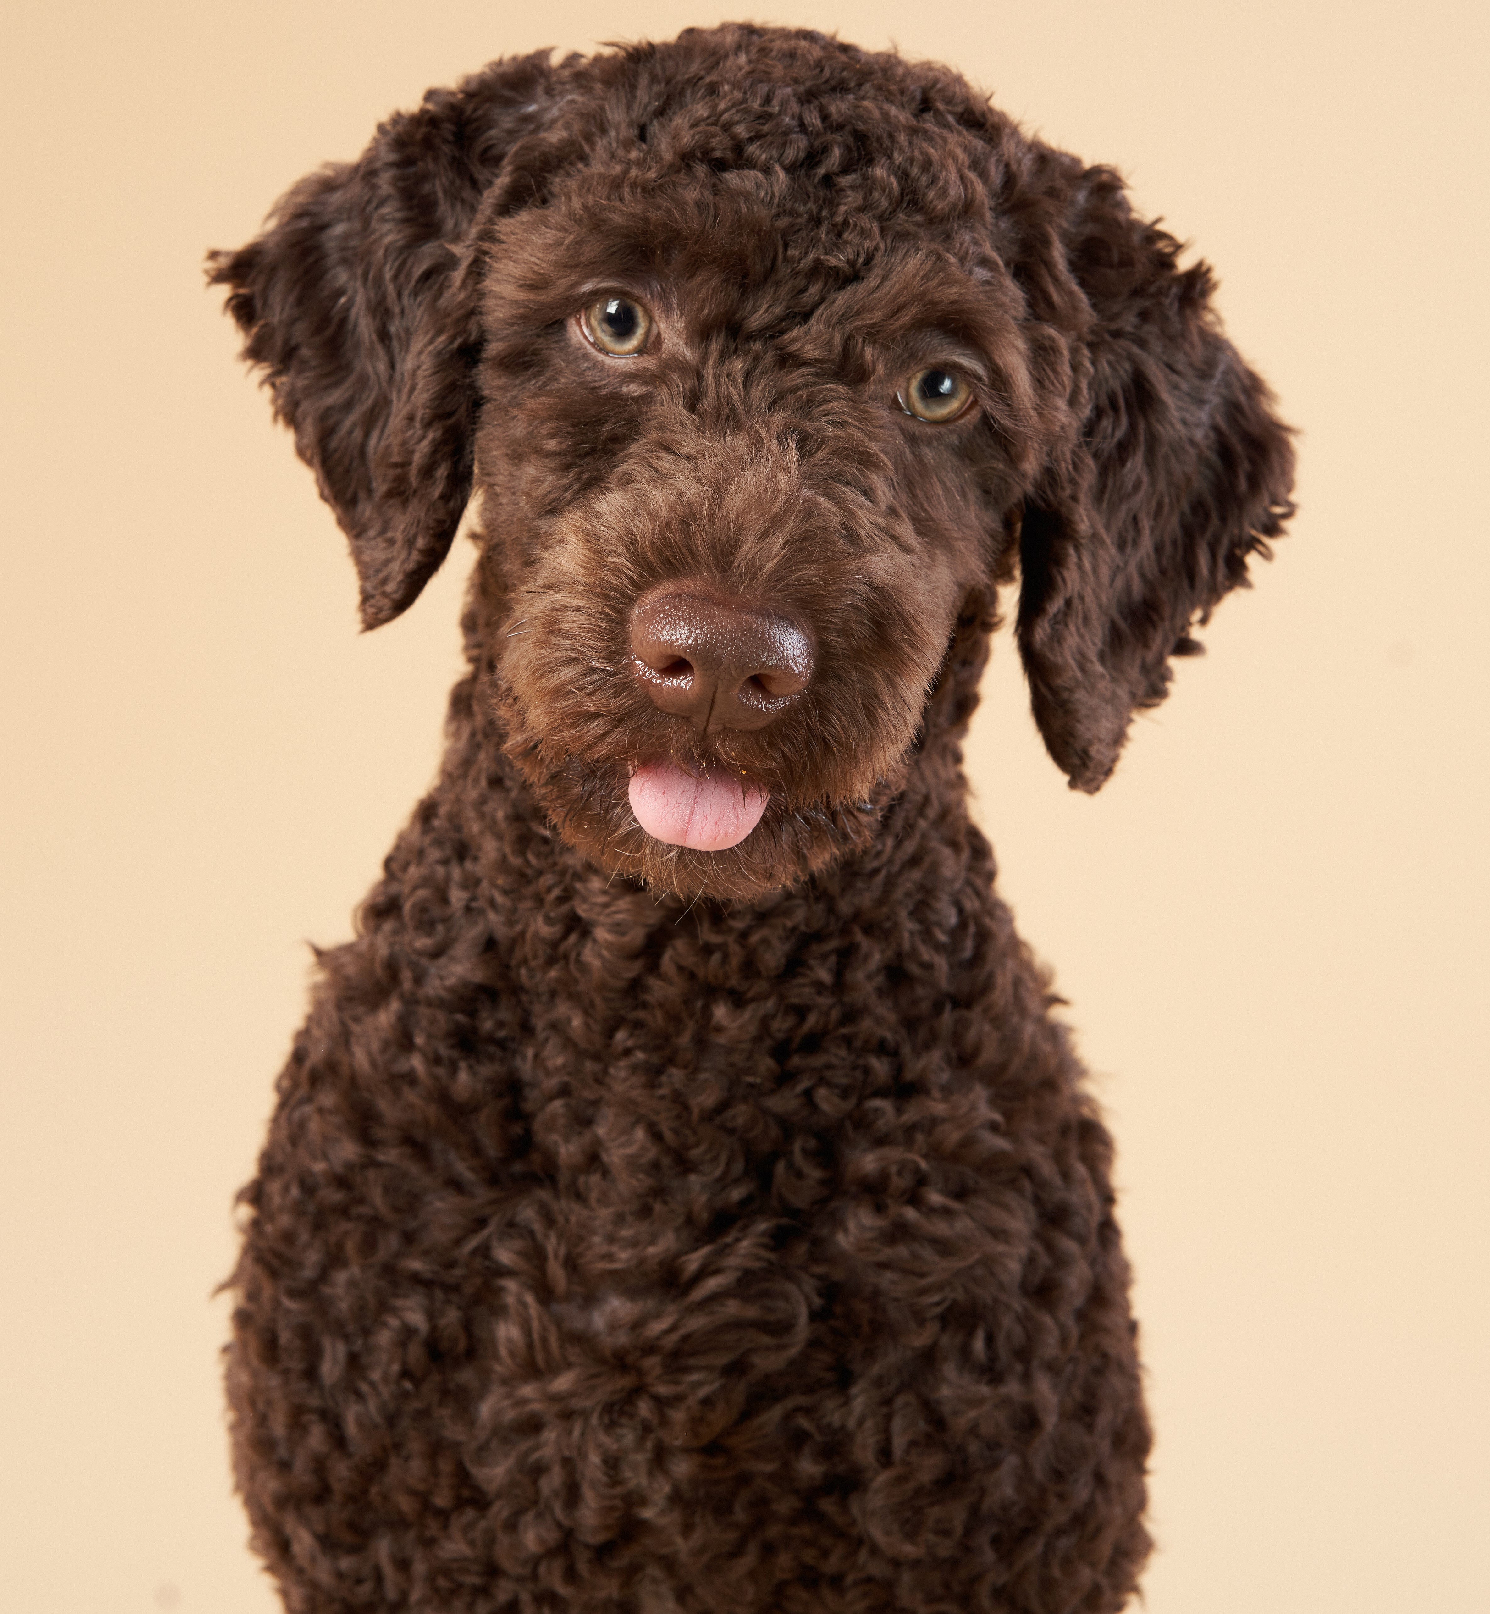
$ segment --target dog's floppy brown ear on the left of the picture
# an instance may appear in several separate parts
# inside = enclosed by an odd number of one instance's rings
[[[352,541],[366,628],[413,604],[460,525],[481,345],[462,244],[478,210],[533,202],[562,160],[542,136],[568,66],[539,52],[431,90],[357,163],[302,179],[257,240],[208,257]]]

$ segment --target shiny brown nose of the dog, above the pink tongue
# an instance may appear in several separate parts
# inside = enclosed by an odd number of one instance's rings
[[[765,728],[807,688],[812,646],[773,612],[662,589],[631,610],[631,668],[654,705],[697,728]]]

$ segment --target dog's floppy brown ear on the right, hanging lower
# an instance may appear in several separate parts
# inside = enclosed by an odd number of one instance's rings
[[[1211,271],[1133,218],[1111,169],[1041,150],[1032,312],[1067,341],[1075,431],[1025,504],[1019,644],[1035,720],[1077,789],[1111,775],[1169,657],[1293,513],[1293,449],[1209,310]]]

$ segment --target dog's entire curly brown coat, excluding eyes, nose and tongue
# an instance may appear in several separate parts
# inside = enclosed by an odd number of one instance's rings
[[[368,626],[481,497],[441,778],[242,1194],[236,1469],[286,1608],[1120,1608],[1111,1144],[959,739],[1017,570],[1096,789],[1288,515],[1207,270],[948,69],[731,26],[431,92],[213,279]],[[583,339],[609,294],[646,352]],[[972,408],[907,413],[927,366]],[[802,625],[776,721],[630,676],[675,584]],[[657,759],[764,817],[663,844]]]

